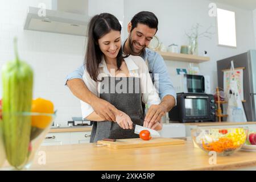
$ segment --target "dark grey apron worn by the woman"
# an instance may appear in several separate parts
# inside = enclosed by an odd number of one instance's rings
[[[100,98],[129,115],[134,124],[143,126],[141,86],[138,77],[104,77],[100,84]],[[138,137],[138,134],[134,134],[134,127],[133,129],[122,129],[118,123],[113,121],[94,121],[90,142],[97,142],[103,138]]]

